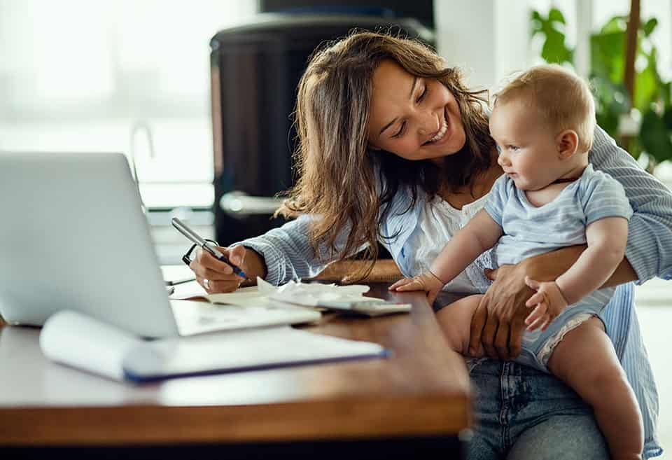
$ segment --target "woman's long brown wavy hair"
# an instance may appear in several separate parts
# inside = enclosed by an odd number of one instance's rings
[[[443,167],[368,147],[372,77],[383,60],[394,60],[419,78],[435,78],[457,100],[466,142],[461,151],[445,158]],[[419,193],[433,197],[442,187],[471,186],[489,169],[494,142],[484,111],[487,101],[487,91],[468,90],[460,71],[444,67],[442,58],[419,41],[353,32],[325,43],[311,55],[299,83],[294,113],[297,182],[276,214],[319,216],[310,234],[316,253],[319,244],[325,244],[330,256],[346,258],[366,246],[371,263],[354,279],[365,277],[378,256],[379,237],[396,236],[383,235],[380,223],[400,188],[409,188],[413,207]],[[344,230],[349,234],[338,253],[335,241]]]

